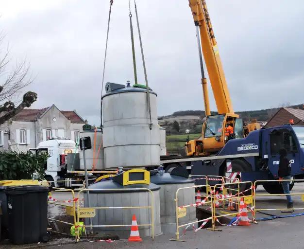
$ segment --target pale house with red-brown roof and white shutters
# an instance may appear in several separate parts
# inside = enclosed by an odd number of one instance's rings
[[[68,138],[75,142],[85,124],[76,110],[62,111],[55,105],[43,109],[23,109],[0,125],[0,149],[27,151],[52,137]]]

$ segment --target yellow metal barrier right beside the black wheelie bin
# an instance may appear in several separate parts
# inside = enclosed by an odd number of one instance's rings
[[[55,190],[51,191],[51,196],[49,196],[48,204],[51,204],[53,206],[64,207],[66,213],[70,216],[73,216],[73,223],[55,219],[54,217],[51,217],[51,218],[48,217],[48,220],[52,221],[52,222],[59,222],[62,224],[75,226],[76,225],[76,204],[75,204],[75,202],[76,201],[78,202],[78,199],[75,198],[74,191],[72,189],[56,188],[56,187],[52,187],[52,189],[55,189]],[[52,194],[58,193],[58,192],[70,192],[71,195],[66,200],[59,200],[59,199],[52,197]]]

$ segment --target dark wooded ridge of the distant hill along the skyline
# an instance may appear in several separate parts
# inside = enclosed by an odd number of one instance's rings
[[[280,107],[290,107],[290,108],[296,108],[296,109],[303,109],[303,104],[295,105],[295,106],[289,106],[289,105],[282,105]],[[277,111],[280,107],[276,108],[269,108],[269,109],[262,109],[262,110],[252,110],[252,111],[236,111],[236,114],[239,114],[240,118],[243,120],[248,120],[248,115],[250,115],[250,118],[257,119],[258,121],[268,121]],[[217,114],[216,111],[211,111],[211,114]],[[175,111],[171,115],[166,116],[160,116],[158,117],[158,120],[162,120],[164,118],[173,118],[177,116],[205,116],[205,111],[203,110],[185,110],[185,111]]]

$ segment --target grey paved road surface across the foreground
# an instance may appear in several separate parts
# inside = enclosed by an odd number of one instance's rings
[[[295,185],[292,193],[304,193],[304,183]],[[266,194],[262,187],[258,187],[257,194]],[[301,196],[293,196],[295,208],[304,207]],[[257,208],[283,208],[286,206],[285,196],[259,196],[256,203]],[[282,215],[279,211],[265,211],[274,215]],[[295,213],[302,213],[299,210]],[[269,217],[264,214],[258,214],[258,218]],[[304,216],[278,218],[268,221],[258,221],[258,224],[252,224],[250,227],[221,227],[222,231],[208,231],[206,229],[198,232],[188,231],[181,239],[187,242],[175,242],[169,239],[173,235],[161,235],[152,241],[151,238],[144,238],[143,242],[129,243],[127,241],[116,241],[114,243],[106,242],[88,242],[83,241],[77,244],[64,244],[67,239],[51,241],[51,244],[35,244],[24,246],[1,246],[3,249],[14,248],[34,248],[37,246],[47,246],[48,249],[217,249],[217,248],[242,248],[242,249],[303,249],[303,222]],[[59,244],[59,245],[58,245]]]

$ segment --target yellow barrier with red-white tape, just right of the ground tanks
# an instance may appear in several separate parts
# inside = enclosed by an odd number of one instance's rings
[[[171,240],[182,241],[182,240],[180,240],[180,235],[179,235],[179,229],[180,228],[186,227],[186,229],[187,229],[191,225],[194,227],[194,224],[199,223],[199,222],[203,222],[202,226],[199,228],[199,229],[201,229],[203,227],[204,223],[206,223],[208,220],[212,219],[212,216],[213,216],[213,210],[211,208],[212,195],[208,196],[208,194],[206,194],[205,198],[199,204],[190,203],[190,204],[185,204],[184,206],[178,206],[178,193],[179,193],[180,190],[182,190],[182,189],[191,189],[191,188],[202,188],[202,187],[206,187],[207,189],[211,188],[210,185],[205,184],[205,185],[195,185],[195,186],[191,186],[191,187],[179,188],[176,191],[175,199],[174,199],[174,201],[175,201],[175,207],[176,207],[176,210],[175,210],[175,212],[176,212],[175,213],[175,215],[176,215],[176,233],[175,233],[176,234],[176,239],[171,239]],[[210,198],[210,200],[208,198]],[[190,207],[196,208],[196,207],[201,206],[203,204],[210,204],[211,216],[209,218],[206,218],[206,219],[203,219],[203,220],[194,221],[194,222],[190,222],[190,223],[186,223],[186,224],[183,224],[183,225],[179,225],[179,218],[183,217],[183,213],[186,213],[186,208],[190,208]]]

